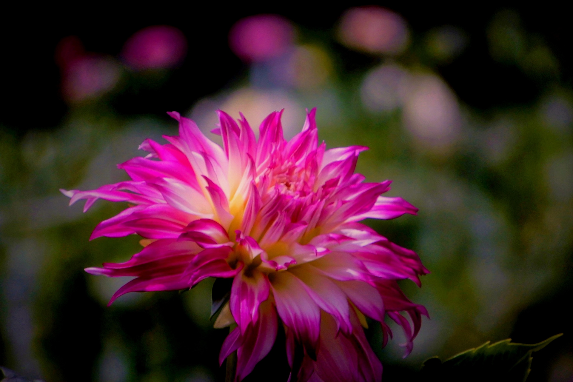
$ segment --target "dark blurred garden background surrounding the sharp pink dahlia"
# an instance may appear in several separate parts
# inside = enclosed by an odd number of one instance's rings
[[[160,9],[159,6],[161,6]],[[210,382],[225,329],[213,280],[132,293],[84,273],[125,261],[138,238],[89,242],[125,206],[83,214],[58,188],[125,179],[146,137],[207,133],[215,109],[257,126],[285,108],[285,134],[317,107],[328,147],[362,144],[358,171],[393,179],[418,216],[368,222],[415,249],[431,274],[414,351],[380,348],[384,381],[485,341],[534,343],[530,381],[573,380],[573,26],[550,3],[500,6],[205,4],[6,10],[1,38],[0,364],[47,382]],[[211,135],[212,138],[215,136]],[[272,373],[272,374],[269,374]],[[286,380],[284,342],[245,381]]]

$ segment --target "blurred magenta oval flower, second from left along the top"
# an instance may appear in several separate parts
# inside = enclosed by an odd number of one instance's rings
[[[181,64],[187,53],[185,35],[168,25],[148,26],[125,42],[121,58],[134,70],[169,69]]]

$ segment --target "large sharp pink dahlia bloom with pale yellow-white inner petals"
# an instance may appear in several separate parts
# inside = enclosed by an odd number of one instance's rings
[[[146,157],[118,166],[132,180],[62,190],[70,204],[87,199],[84,211],[99,198],[129,203],[97,225],[91,239],[144,238],[144,249],[129,261],[86,271],[135,277],[110,304],[128,292],[232,278],[215,327],[236,324],[219,361],[237,351],[237,380],[269,353],[282,324],[291,381],[380,381],[382,364],[362,328],[366,317],[382,325],[384,345],[391,336],[386,314],[401,325],[409,353],[427,312],[404,296],[397,280],[420,285],[418,276],[428,271],[413,251],[359,220],[393,219],[417,208],[380,196],[390,181],[366,183],[354,174],[366,147],[319,145],[315,109],[289,141],[281,113],[262,121],[256,140],[242,115],[235,121],[218,111],[213,132],[222,136],[221,148],[172,112],[179,136],[164,136],[164,145],[147,139],[140,145]]]

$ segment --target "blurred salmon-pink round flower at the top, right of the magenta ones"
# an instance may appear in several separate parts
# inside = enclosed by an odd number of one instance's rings
[[[338,36],[349,48],[373,54],[398,54],[406,49],[410,33],[406,21],[394,11],[378,6],[347,10]]]

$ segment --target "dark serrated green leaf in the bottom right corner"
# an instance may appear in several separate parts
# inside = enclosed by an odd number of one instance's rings
[[[432,357],[423,364],[423,380],[524,382],[531,371],[532,353],[562,335],[556,334],[532,345],[516,344],[509,338],[491,345],[488,341],[443,363],[438,357]]]

